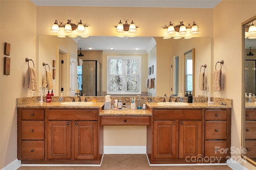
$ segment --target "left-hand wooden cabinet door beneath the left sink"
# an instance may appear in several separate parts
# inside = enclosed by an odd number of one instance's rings
[[[48,159],[71,159],[70,121],[48,121]]]

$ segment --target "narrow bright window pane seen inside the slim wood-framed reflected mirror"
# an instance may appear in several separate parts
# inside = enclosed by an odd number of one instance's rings
[[[193,60],[191,59],[185,60],[185,91],[192,92],[193,91]]]

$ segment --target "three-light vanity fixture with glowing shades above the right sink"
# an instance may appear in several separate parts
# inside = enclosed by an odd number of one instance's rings
[[[168,29],[167,33],[168,35],[173,36],[165,36],[163,39],[168,39],[168,37],[174,37],[174,39],[181,39],[184,37],[184,39],[191,39],[193,38],[193,34],[198,34],[198,26],[196,25],[195,21],[193,23],[188,23],[188,26],[186,27],[183,23],[183,21],[179,21],[180,24],[174,26],[174,23],[170,21],[169,26],[165,25],[164,29]],[[192,26],[191,26],[192,25]],[[180,36],[184,35],[184,36]]]

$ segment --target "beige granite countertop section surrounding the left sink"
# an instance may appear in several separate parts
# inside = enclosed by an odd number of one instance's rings
[[[60,102],[43,102],[37,103],[37,102],[30,102],[28,104],[20,104],[17,105],[17,107],[38,107],[38,108],[86,108],[86,109],[91,109],[91,108],[100,108],[104,106],[104,103],[102,102],[96,102],[88,106],[65,106],[61,105]]]

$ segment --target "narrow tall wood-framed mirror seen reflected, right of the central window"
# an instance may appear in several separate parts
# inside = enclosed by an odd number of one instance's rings
[[[184,94],[195,96],[195,49],[184,53]]]

